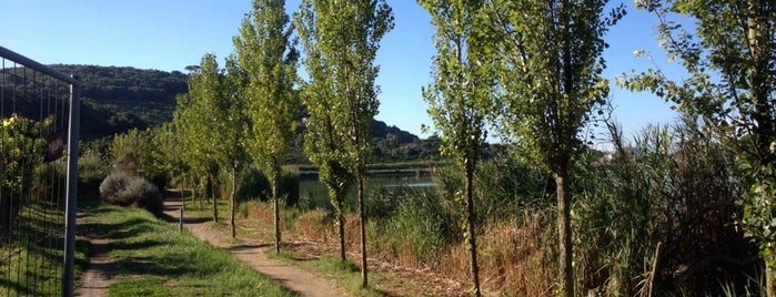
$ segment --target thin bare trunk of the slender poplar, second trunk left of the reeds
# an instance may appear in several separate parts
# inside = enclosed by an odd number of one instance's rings
[[[476,214],[474,212],[474,163],[466,161],[464,164],[465,195],[466,195],[466,239],[468,240],[470,266],[472,268],[473,296],[482,296],[480,290],[480,265],[477,264],[477,236]]]

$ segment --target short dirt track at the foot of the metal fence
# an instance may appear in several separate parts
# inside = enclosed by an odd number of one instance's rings
[[[92,255],[87,270],[81,275],[82,285],[75,290],[75,296],[102,297],[108,295],[108,287],[115,281],[113,260],[108,256],[108,239],[100,238],[92,231],[85,231],[85,236],[92,244]]]

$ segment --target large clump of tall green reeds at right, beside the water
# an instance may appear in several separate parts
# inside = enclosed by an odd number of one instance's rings
[[[586,153],[574,170],[578,284],[635,295],[652,277],[657,295],[712,296],[723,294],[715,284],[745,285],[757,273],[747,260],[756,249],[736,227],[742,187],[732,155],[692,120],[649,126],[632,143],[609,129],[613,157]]]

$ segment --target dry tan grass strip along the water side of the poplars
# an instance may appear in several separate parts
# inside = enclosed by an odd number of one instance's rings
[[[252,215],[253,216],[253,215]],[[357,215],[345,219],[347,250],[359,248]],[[552,236],[550,222],[540,214],[515,218],[485,228],[477,237],[480,277],[487,295],[548,296],[555,287],[555,262],[544,238]],[[337,239],[334,217],[324,211],[301,215],[292,229],[294,235],[320,243]],[[373,234],[369,239],[370,257],[406,269],[425,272],[458,284],[471,279],[467,245],[454,243],[442,247],[431,260],[415,255],[411,243],[393,240]],[[468,285],[463,285],[468,286]]]

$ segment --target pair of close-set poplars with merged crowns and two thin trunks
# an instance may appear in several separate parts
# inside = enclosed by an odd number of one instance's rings
[[[372,121],[377,114],[374,59],[380,40],[393,29],[384,0],[304,0],[295,16],[311,82],[302,99],[310,117],[305,152],[329,186],[340,224],[340,257],[345,259],[343,199],[355,177],[359,185],[362,286],[367,285],[364,178],[372,152]]]

